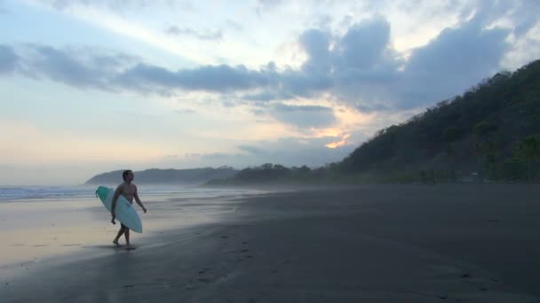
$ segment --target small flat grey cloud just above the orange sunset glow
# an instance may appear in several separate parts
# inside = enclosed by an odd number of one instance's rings
[[[270,114],[298,128],[324,128],[336,122],[332,108],[318,105],[272,105]]]

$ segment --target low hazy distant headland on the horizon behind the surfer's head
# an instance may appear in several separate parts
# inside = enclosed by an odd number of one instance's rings
[[[232,177],[238,171],[233,167],[204,167],[192,169],[159,169],[151,168],[133,172],[134,183],[144,184],[179,184],[195,185],[203,184],[211,179]],[[122,183],[123,170],[115,170],[108,173],[94,175],[86,184],[117,184]]]

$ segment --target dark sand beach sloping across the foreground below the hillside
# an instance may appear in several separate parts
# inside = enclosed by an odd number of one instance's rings
[[[538,302],[539,197],[500,184],[252,196],[133,251],[3,276],[0,301]]]

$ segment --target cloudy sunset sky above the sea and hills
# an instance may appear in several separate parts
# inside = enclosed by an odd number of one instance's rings
[[[320,167],[540,57],[540,2],[0,0],[0,186]]]

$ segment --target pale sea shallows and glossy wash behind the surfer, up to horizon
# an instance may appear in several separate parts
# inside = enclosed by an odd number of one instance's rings
[[[98,186],[0,187],[0,270],[28,268],[64,253],[111,251],[120,224],[95,196]],[[257,190],[196,186],[138,185],[147,208],[143,234],[131,232],[131,244],[145,244],[164,230],[183,229],[220,220],[234,212],[234,199]],[[122,244],[124,238],[121,237]]]

